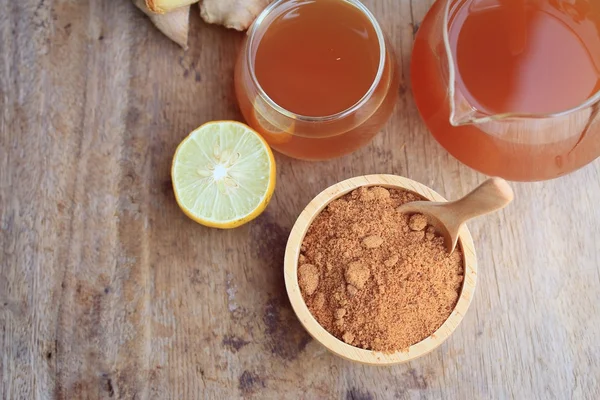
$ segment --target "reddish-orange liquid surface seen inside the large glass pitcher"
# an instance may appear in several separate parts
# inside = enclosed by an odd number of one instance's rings
[[[568,16],[543,3],[505,0],[481,12],[463,7],[455,17],[450,43],[458,86],[479,110],[560,112],[600,90],[600,66],[588,53],[600,54],[600,47],[588,48],[561,21]]]

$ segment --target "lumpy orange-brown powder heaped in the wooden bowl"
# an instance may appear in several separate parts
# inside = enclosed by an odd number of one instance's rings
[[[422,200],[361,187],[332,201],[304,238],[298,281],[309,310],[356,347],[392,353],[434,333],[454,309],[462,252],[449,255],[425,216],[396,211]]]

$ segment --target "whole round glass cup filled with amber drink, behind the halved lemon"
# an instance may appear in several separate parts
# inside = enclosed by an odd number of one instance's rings
[[[235,70],[246,122],[277,151],[324,160],[367,144],[398,93],[394,55],[356,0],[279,0],[248,31]]]

